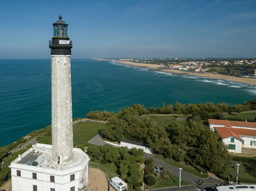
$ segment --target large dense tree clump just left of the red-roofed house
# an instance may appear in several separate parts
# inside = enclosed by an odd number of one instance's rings
[[[202,122],[190,120],[184,126],[171,124],[167,132],[174,144],[188,150],[194,162],[215,173],[224,172],[227,168],[230,154],[223,142],[218,140],[218,135],[204,127]]]

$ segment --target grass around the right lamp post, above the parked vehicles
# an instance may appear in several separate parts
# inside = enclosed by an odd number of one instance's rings
[[[246,163],[241,162],[235,162],[239,163],[239,180],[241,183],[256,183],[256,178],[250,175],[246,170]],[[237,173],[237,167],[228,167],[226,172],[224,174],[220,174],[220,176],[223,179],[226,179],[227,177],[230,178],[230,181],[235,182],[236,181],[236,173]]]

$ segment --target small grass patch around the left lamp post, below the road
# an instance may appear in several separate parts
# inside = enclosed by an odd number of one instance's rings
[[[149,189],[168,188],[168,187],[174,187],[174,186],[179,187],[179,178],[172,174],[170,175],[170,177],[171,178],[169,179],[161,178],[160,181],[158,181],[155,185],[149,186]],[[189,184],[181,180],[181,185],[189,185]]]

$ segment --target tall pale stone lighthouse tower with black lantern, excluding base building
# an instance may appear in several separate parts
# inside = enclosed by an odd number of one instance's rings
[[[66,165],[73,160],[73,117],[70,56],[72,42],[61,15],[55,22],[49,47],[52,56],[52,160]]]

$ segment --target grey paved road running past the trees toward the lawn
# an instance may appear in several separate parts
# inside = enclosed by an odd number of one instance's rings
[[[100,135],[96,135],[94,138],[89,140],[89,143],[96,144],[96,145],[104,145],[105,144],[105,142],[100,139]],[[154,158],[151,154],[148,154],[148,153],[144,153],[144,156],[153,158],[153,160],[155,160],[155,162],[154,162],[155,165],[157,165],[159,167],[165,167],[166,171],[169,171],[174,176],[179,177],[179,168],[178,167],[174,167],[173,165],[165,163],[162,160]],[[155,189],[154,191],[157,191],[157,190],[159,190],[159,191],[195,190],[195,189],[198,188],[197,184],[199,183],[199,181],[202,180],[201,177],[196,176],[194,174],[191,174],[189,172],[186,172],[184,170],[181,171],[181,179],[183,181],[186,181],[190,185],[181,186],[181,188],[179,188],[179,182],[178,182],[178,183],[176,183],[177,184],[176,187],[173,187],[173,188],[163,188],[163,189]],[[223,183],[223,181],[220,180],[220,179],[217,179],[217,178],[213,178],[211,176],[209,178],[204,178],[204,188],[206,188],[207,191],[210,191],[211,188],[215,187],[216,185],[220,185],[220,183]]]

